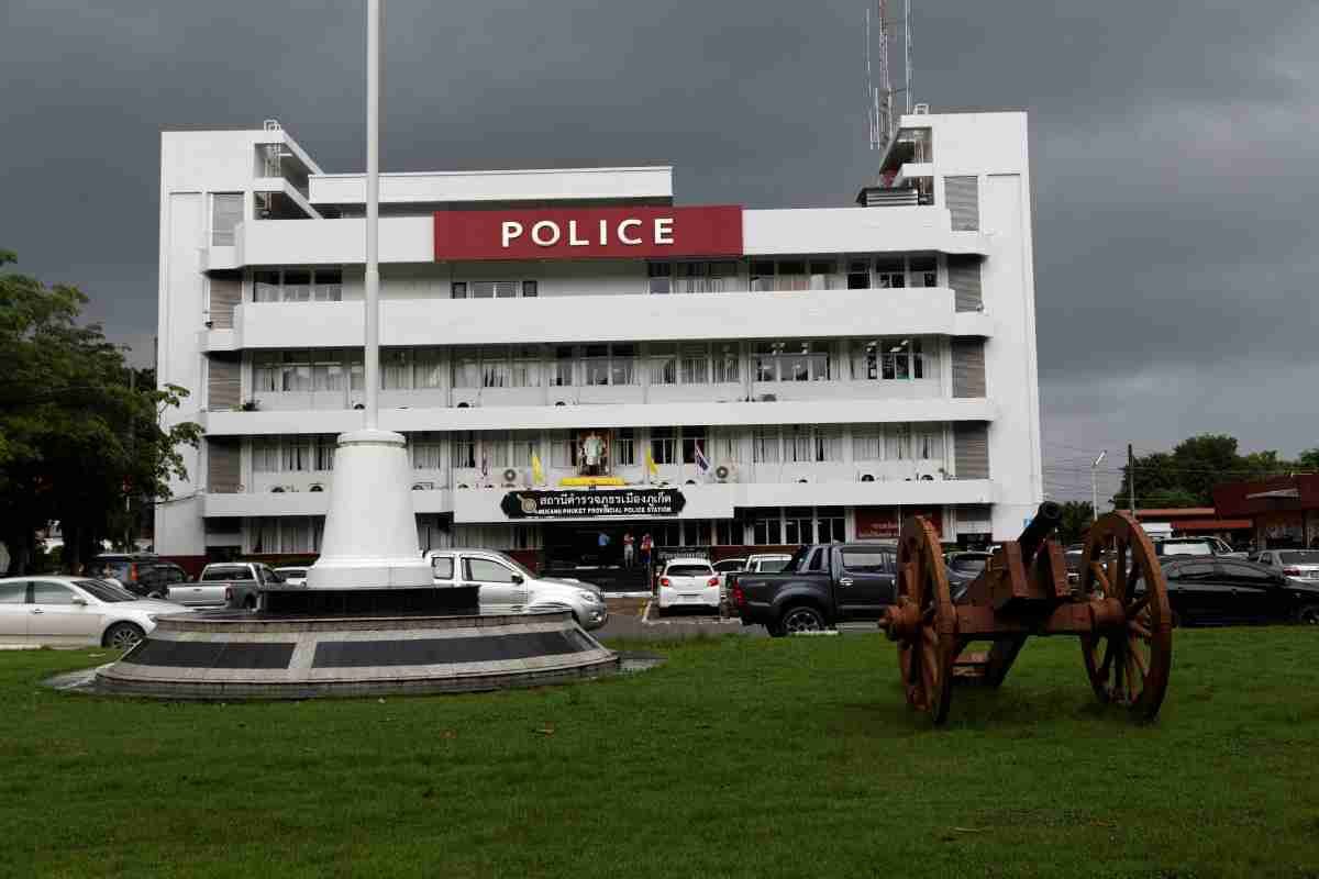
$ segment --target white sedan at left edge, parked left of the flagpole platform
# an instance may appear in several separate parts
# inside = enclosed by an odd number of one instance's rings
[[[156,629],[156,618],[187,608],[138,598],[123,586],[87,577],[0,580],[0,642],[50,647],[128,650]]]

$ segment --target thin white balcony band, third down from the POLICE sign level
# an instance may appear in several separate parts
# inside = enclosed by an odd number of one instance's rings
[[[886,385],[890,382],[869,382]],[[892,382],[902,385],[904,382]],[[640,390],[640,389],[638,389]],[[307,395],[310,397],[310,394]],[[987,398],[781,399],[565,406],[468,406],[383,409],[380,427],[390,431],[576,430],[582,427],[662,427],[707,424],[884,424],[902,422],[992,422]],[[361,427],[363,414],[344,409],[288,409],[202,412],[210,436],[343,434]]]

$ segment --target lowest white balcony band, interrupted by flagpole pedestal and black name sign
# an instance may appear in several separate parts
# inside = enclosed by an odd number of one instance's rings
[[[678,518],[728,519],[739,507],[777,506],[943,506],[995,502],[989,480],[942,481],[820,481],[820,482],[704,482],[673,485],[686,505]],[[505,486],[413,490],[417,513],[451,513],[455,523],[506,523],[500,509]],[[324,515],[326,492],[251,492],[204,494],[207,518]],[[574,519],[580,521],[580,519]]]

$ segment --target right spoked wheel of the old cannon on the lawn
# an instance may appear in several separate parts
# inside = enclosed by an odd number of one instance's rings
[[[1128,514],[1109,513],[1091,526],[1080,589],[1105,609],[1097,614],[1101,625],[1082,637],[1095,695],[1153,720],[1173,666],[1173,613],[1154,544]]]

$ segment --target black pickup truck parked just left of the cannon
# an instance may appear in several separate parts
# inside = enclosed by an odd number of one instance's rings
[[[897,546],[802,547],[781,573],[728,575],[728,596],[744,626],[764,625],[774,637],[878,619],[897,601]]]

